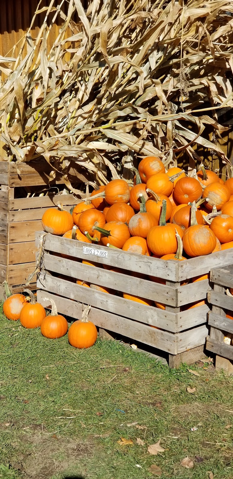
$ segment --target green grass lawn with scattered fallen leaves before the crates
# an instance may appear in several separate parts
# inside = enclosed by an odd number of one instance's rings
[[[195,376],[119,342],[76,350],[2,313],[0,344],[0,477],[233,478],[233,378],[211,364]]]

